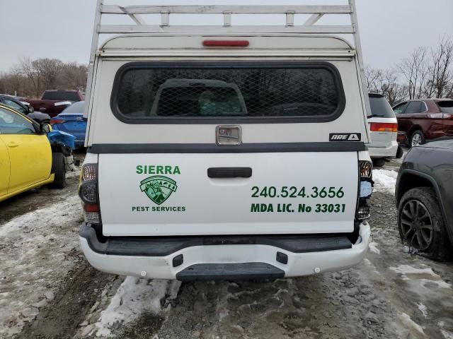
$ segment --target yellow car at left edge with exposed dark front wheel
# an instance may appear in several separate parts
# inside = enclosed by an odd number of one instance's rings
[[[52,153],[50,131],[0,105],[0,201],[45,184],[66,186],[64,155]]]

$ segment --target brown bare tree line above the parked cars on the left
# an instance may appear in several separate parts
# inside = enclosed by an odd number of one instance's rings
[[[59,59],[21,59],[10,71],[0,73],[0,93],[38,98],[45,90],[86,88],[88,66]]]

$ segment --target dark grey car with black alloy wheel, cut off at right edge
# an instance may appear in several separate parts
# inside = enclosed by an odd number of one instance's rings
[[[403,242],[444,261],[453,244],[453,138],[408,151],[396,179]]]

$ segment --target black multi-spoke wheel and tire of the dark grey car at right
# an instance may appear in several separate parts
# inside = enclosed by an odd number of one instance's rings
[[[408,246],[432,260],[445,261],[449,240],[442,211],[430,187],[407,191],[398,205],[398,229]]]

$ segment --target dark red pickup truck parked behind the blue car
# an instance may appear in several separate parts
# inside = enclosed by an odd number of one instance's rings
[[[73,102],[85,100],[79,90],[46,90],[39,100],[28,100],[35,111],[45,112],[55,117]]]

